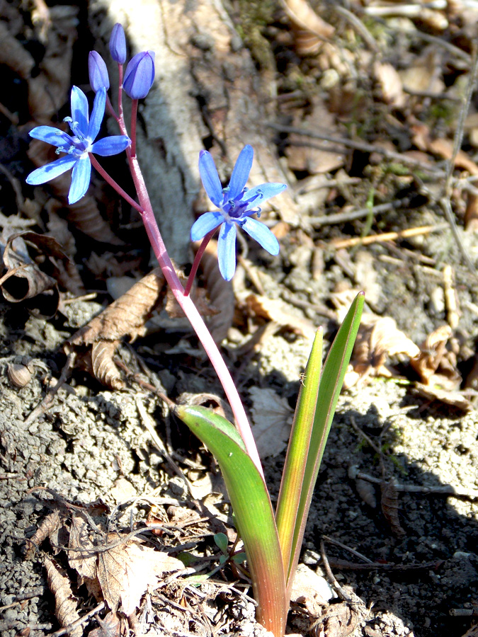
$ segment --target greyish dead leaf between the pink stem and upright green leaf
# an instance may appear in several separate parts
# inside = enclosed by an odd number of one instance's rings
[[[283,452],[290,437],[294,411],[288,401],[273,391],[250,387],[254,439],[261,458]]]

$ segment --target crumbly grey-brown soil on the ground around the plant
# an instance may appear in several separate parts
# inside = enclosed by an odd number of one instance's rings
[[[13,25],[11,12],[17,9],[15,3],[4,3],[8,24]],[[285,18],[280,16],[277,21],[270,18],[264,32],[268,40],[261,40],[261,46],[273,37],[282,42],[275,54],[278,67],[285,68],[285,53],[292,52],[279,38],[285,30]],[[79,19],[79,32],[87,33],[86,12],[81,11]],[[84,45],[76,48],[74,65],[84,52]],[[307,69],[312,73],[314,65],[307,64],[298,67],[301,73]],[[283,87],[292,81],[288,72],[283,71]],[[27,110],[26,103],[22,108]],[[377,102],[370,108],[376,115]],[[14,110],[12,105],[9,109]],[[24,188],[23,179],[31,168],[25,155],[25,128],[21,139],[10,163],[6,156],[2,161]],[[280,140],[278,149],[284,150]],[[23,164],[28,168],[19,167]],[[423,196],[418,176],[377,179],[380,166],[368,164],[362,153],[348,156],[344,165],[349,177],[360,175],[360,186],[344,186],[340,192],[331,187],[324,202],[329,214],[345,210],[343,206],[351,200],[355,207],[365,206],[368,193],[378,184],[382,200],[397,202],[403,197],[403,203],[377,214],[373,233],[443,224],[440,206],[433,197]],[[295,171],[295,177],[299,192],[304,175]],[[12,208],[11,181],[6,180],[2,188],[8,193],[6,208]],[[104,193],[98,182],[95,188],[101,199]],[[30,191],[27,194],[33,197]],[[45,199],[41,202],[46,206]],[[463,212],[460,202],[454,200],[454,204],[457,212]],[[39,233],[45,229],[45,210],[33,215],[37,223],[33,227]],[[6,212],[13,214],[13,210]],[[107,212],[114,217],[110,209]],[[132,229],[137,246],[130,250],[122,243],[106,250],[105,244],[88,241],[98,254],[106,253],[106,260],[114,254],[118,262],[122,258],[134,261],[135,274],[140,276],[147,271],[147,241],[137,218],[125,219],[122,214],[115,231],[129,241],[126,237]],[[266,219],[272,221],[273,214],[266,214]],[[477,234],[464,229],[462,217],[458,221],[462,242],[476,265]],[[455,389],[466,387],[470,403],[462,408],[451,391],[443,399],[424,395],[409,358],[400,355],[387,358],[387,365],[393,364],[389,377],[375,375],[379,366],[372,362],[368,374],[343,391],[301,558],[330,580],[324,557],[328,559],[336,597],[315,615],[307,612],[305,604],[293,602],[288,632],[317,637],[471,636],[476,634],[472,627],[478,613],[478,415],[473,404],[476,275],[464,263],[448,227],[390,244],[334,248],[336,239],[361,236],[364,223],[360,219],[317,225],[317,230],[305,221],[301,227],[288,227],[278,259],[249,244],[249,265],[238,266],[239,282],[234,282],[234,326],[222,348],[249,413],[252,387],[273,389],[278,401],[283,398],[293,408],[309,351],[307,334],[283,324],[260,340],[255,350],[243,354],[241,346],[253,330],[251,324],[254,329],[264,324],[246,316],[244,299],[257,292],[270,299],[289,299],[290,314],[297,321],[324,325],[326,343],[338,326],[334,299],[360,288],[368,294],[368,312],[394,319],[416,344],[436,328],[450,325],[446,351],[453,370],[461,375],[461,385]],[[67,552],[60,550],[64,547],[61,532],[56,540],[45,535],[38,542],[38,528],[52,512],[59,512],[62,529],[67,530],[79,510],[89,512],[101,528],[109,520],[112,532],[142,529],[144,541],[175,556],[188,553],[189,564],[200,572],[220,563],[214,534],[234,536],[227,493],[215,461],[186,427],[169,416],[161,399],[164,394],[181,399],[185,392],[222,396],[197,340],[182,323],[167,323],[161,316],[161,331],[158,323],[148,323],[145,335],[133,345],[120,345],[119,362],[127,372],[125,389],[105,389],[84,369],[75,368],[50,405],[32,417],[60,376],[66,361],[65,341],[111,301],[106,268],[95,275],[91,263],[86,265],[91,248],[85,248],[84,234],[77,229],[72,234],[84,291],[96,292],[96,299],[74,300],[81,294],[67,294],[60,286],[68,302],[47,319],[26,304],[0,300],[0,634],[8,637],[39,637],[59,629],[45,555],[64,569],[71,585],[66,595],[74,599],[80,616],[98,606],[68,563]],[[457,322],[443,296],[443,265],[453,269]],[[250,277],[251,268],[261,289]],[[25,375],[18,380],[16,374]],[[278,494],[284,458],[285,450],[263,459],[273,498]],[[185,516],[190,516],[190,522],[180,524],[178,520],[184,521]],[[161,535],[147,532],[145,522],[152,520],[162,524]],[[244,592],[251,593],[246,578],[230,566],[197,587],[184,585],[181,576],[166,579],[158,590],[144,595],[140,609],[129,617],[129,629],[136,634],[171,636],[259,635],[254,603]],[[348,619],[334,628],[330,618],[343,614],[345,608]],[[99,609],[96,616],[101,620],[105,614]],[[76,634],[87,635],[94,629],[98,622],[93,615]],[[119,630],[111,634],[119,635]],[[110,633],[103,629],[95,634]]]

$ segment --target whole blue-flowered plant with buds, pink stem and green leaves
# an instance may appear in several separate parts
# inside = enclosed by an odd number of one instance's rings
[[[254,596],[258,604],[257,618],[275,637],[282,637],[290,601],[290,589],[309,512],[309,505],[327,436],[331,427],[338,394],[340,393],[363,308],[363,294],[359,294],[348,311],[336,335],[322,368],[322,335],[317,331],[312,352],[300,388],[294,423],[285,460],[277,508],[274,512],[256,444],[244,406],[234,381],[220,355],[203,319],[190,299],[190,285],[207,242],[220,228],[218,258],[220,272],[230,280],[236,268],[237,226],[248,233],[268,252],[275,255],[279,243],[272,232],[253,214],[260,215],[260,205],[282,192],[285,184],[266,183],[246,188],[254,151],[246,146],[239,154],[229,185],[223,188],[215,163],[207,151],[201,151],[199,171],[212,203],[219,210],[206,212],[193,224],[191,239],[202,243],[196,254],[186,289],[176,275],[154,219],[144,179],[136,155],[136,122],[138,100],[147,96],[154,82],[154,53],[138,53],[127,64],[123,79],[123,64],[127,52],[125,33],[121,25],[113,28],[110,54],[118,63],[119,90],[116,109],[108,98],[110,81],[106,64],[97,52],[89,57],[90,84],[96,97],[91,117],[84,93],[72,88],[72,117],[66,121],[72,130],[39,126],[30,135],[57,147],[56,161],[37,168],[27,178],[30,184],[45,183],[72,170],[69,189],[70,204],[84,196],[89,186],[91,166],[140,212],[164,277],[174,297],[190,320],[220,378],[224,393],[234,413],[235,426],[211,411],[193,406],[175,408],[190,430],[215,454],[229,491],[235,520],[244,541]],[[123,115],[123,93],[132,100],[129,134]],[[120,128],[120,135],[96,141],[106,108]],[[137,200],[127,195],[98,163],[95,157],[125,151],[135,184]]]

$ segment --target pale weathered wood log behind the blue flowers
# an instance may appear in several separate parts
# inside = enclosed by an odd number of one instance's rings
[[[186,263],[195,213],[211,209],[200,186],[201,149],[211,151],[224,183],[245,144],[256,152],[249,186],[287,182],[264,126],[268,87],[220,0],[91,0],[89,19],[106,60],[117,22],[131,54],[156,53],[156,79],[140,107],[137,153],[169,253]],[[266,206],[264,217],[272,209],[297,224],[290,190]]]

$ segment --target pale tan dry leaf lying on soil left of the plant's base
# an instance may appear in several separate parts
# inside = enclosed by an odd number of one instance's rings
[[[110,534],[108,541],[118,541],[118,535]],[[165,573],[183,568],[180,560],[137,541],[98,553],[98,580],[105,601],[113,612],[121,603],[126,615],[140,605],[149,586],[157,587],[158,579]]]

